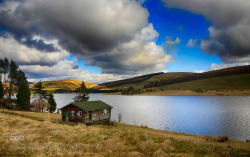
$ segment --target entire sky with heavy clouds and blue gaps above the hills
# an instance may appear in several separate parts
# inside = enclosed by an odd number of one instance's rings
[[[249,0],[0,0],[0,58],[30,82],[250,63]]]

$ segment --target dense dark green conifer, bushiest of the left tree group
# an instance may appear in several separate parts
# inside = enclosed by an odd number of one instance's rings
[[[17,107],[21,110],[30,110],[30,89],[27,83],[23,82],[19,88],[17,97]]]

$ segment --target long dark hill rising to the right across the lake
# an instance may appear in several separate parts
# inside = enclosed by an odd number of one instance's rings
[[[133,80],[126,79],[124,83],[117,84],[116,82],[109,82],[108,84],[113,84],[111,89],[126,89],[128,87],[133,87],[135,89],[183,89],[183,90],[195,90],[197,88],[203,88],[208,90],[223,90],[223,89],[250,89],[249,82],[245,79],[246,74],[250,74],[250,66],[239,66],[220,70],[209,71],[205,73],[185,73],[185,72],[175,72],[175,73],[157,73],[157,75],[152,75],[144,80],[138,80],[137,82],[129,81]],[[150,76],[150,75],[149,75]],[[229,77],[226,77],[229,76]],[[232,76],[232,77],[230,77]],[[140,78],[140,77],[137,77]],[[210,78],[215,78],[210,81]],[[203,86],[199,87],[198,84],[203,82]],[[119,82],[122,82],[120,80]],[[198,81],[195,83],[195,81]],[[224,81],[224,82],[223,82]],[[194,82],[194,83],[193,83]],[[241,82],[238,83],[237,82]],[[183,83],[183,84],[181,84]],[[106,85],[105,83],[102,85]],[[171,85],[171,86],[167,86]],[[183,87],[187,88],[180,88]],[[166,87],[165,87],[166,86]],[[97,86],[97,88],[106,86]],[[109,86],[110,87],[110,86]],[[188,88],[189,87],[189,88]]]

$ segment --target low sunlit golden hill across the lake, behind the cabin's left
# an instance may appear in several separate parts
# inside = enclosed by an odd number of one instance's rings
[[[58,90],[75,90],[79,87],[79,84],[81,84],[82,81],[79,80],[60,80],[60,81],[43,81],[42,85],[44,87],[44,90],[47,91],[58,91]],[[93,88],[97,86],[94,83],[90,82],[84,82],[87,88]],[[31,89],[34,88],[35,83],[30,84],[29,87]]]

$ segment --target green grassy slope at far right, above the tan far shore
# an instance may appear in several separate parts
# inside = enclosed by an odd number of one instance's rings
[[[250,74],[233,75],[176,83],[158,87],[164,90],[238,90],[250,89]]]

